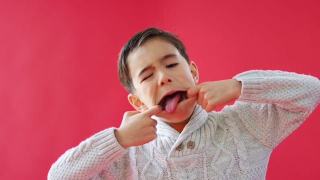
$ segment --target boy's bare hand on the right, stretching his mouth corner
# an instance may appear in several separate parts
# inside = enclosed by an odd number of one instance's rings
[[[235,79],[202,82],[190,87],[186,94],[188,97],[198,95],[197,104],[210,112],[215,107],[237,99],[241,94],[241,86],[241,82]]]

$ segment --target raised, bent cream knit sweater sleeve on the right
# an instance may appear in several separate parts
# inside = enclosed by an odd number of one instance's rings
[[[274,148],[296,129],[320,102],[320,81],[283,71],[251,70],[233,77],[241,81],[234,103],[246,129]]]

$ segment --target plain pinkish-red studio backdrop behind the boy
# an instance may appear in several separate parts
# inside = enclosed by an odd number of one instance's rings
[[[320,77],[318,0],[1,0],[0,179],[45,179],[67,149],[133,108],[117,55],[135,32],[179,34],[200,82],[249,69]],[[221,108],[218,108],[219,110]],[[266,179],[320,176],[320,107],[270,156]]]

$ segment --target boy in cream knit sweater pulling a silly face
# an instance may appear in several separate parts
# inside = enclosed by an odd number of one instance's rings
[[[282,71],[197,84],[184,45],[154,27],[126,42],[118,75],[136,111],[67,150],[48,179],[264,179],[272,149],[320,101],[317,78]]]

